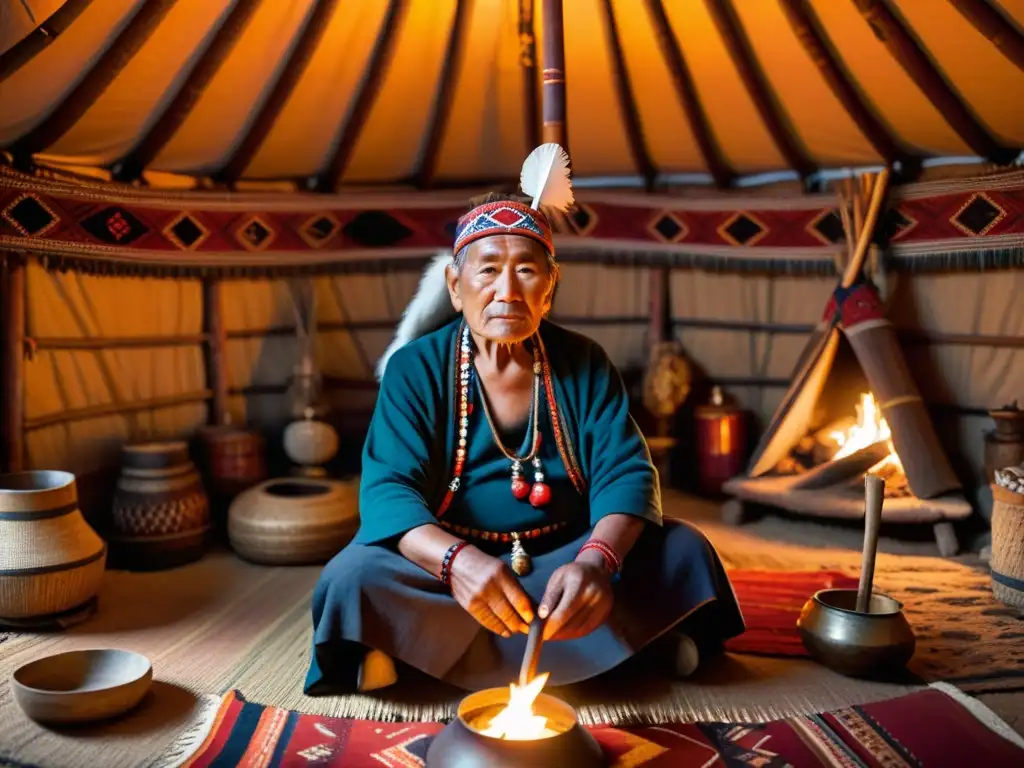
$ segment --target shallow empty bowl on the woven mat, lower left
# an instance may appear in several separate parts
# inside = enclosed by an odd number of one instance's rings
[[[11,675],[14,700],[40,723],[84,723],[122,715],[142,700],[152,682],[148,658],[116,648],[37,658]]]

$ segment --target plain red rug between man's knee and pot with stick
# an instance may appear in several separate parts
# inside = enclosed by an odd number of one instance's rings
[[[797,617],[818,590],[856,589],[857,580],[838,570],[730,570],[746,632],[726,643],[733,653],[806,656]]]

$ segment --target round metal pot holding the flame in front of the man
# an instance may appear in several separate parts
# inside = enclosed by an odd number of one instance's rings
[[[471,693],[459,703],[459,713],[430,743],[426,768],[603,768],[604,753],[580,725],[575,711],[564,701],[541,693],[534,712],[548,718],[559,732],[553,736],[516,741],[485,736],[474,724],[489,722],[509,700],[508,688]]]

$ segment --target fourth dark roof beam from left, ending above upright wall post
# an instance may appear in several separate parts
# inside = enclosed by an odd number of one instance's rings
[[[260,104],[256,116],[249,124],[249,130],[246,131],[234,152],[221,168],[211,174],[214,180],[232,184],[245,174],[249,164],[269,135],[270,129],[281,117],[285,104],[291,98],[306,68],[309,67],[309,61],[312,59],[313,53],[316,52],[321,40],[324,39],[324,33],[327,32],[337,7],[338,0],[315,0],[312,11],[306,17],[302,31],[299,33],[299,39],[288,53],[270,93]]]

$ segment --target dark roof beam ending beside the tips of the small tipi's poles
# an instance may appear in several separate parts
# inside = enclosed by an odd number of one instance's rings
[[[827,33],[808,0],[779,0],[782,11],[804,50],[817,66],[833,94],[843,104],[850,119],[887,164],[912,164],[909,154],[867,105],[860,90],[849,77],[835,51]]]

